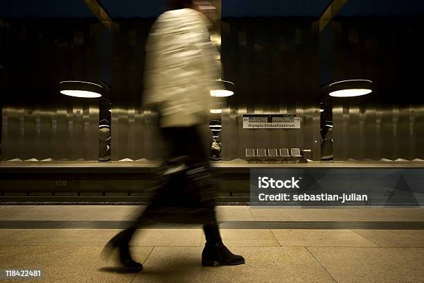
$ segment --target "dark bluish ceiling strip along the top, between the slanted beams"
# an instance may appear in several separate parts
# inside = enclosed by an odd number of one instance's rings
[[[157,17],[166,0],[98,0],[112,18]],[[222,0],[222,17],[319,17],[331,0]],[[424,0],[348,0],[337,16],[423,15]],[[2,0],[0,17],[93,17],[82,0]]]

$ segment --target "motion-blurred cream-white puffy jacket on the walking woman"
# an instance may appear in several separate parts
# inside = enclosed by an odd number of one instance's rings
[[[202,13],[186,8],[164,12],[152,26],[143,103],[158,108],[161,127],[194,126],[207,117],[220,62],[206,21]]]

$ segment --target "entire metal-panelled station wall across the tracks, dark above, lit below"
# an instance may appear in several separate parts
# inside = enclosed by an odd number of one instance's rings
[[[104,59],[96,19],[5,21],[2,160],[97,160],[97,102],[63,97],[58,85],[99,81],[108,65],[112,160],[154,159],[157,117],[141,105],[144,45],[153,22],[114,20]],[[369,78],[375,87],[369,96],[332,101],[334,160],[424,159],[423,22],[339,17],[328,26],[331,79]],[[312,159],[320,159],[320,40],[313,17],[222,19],[223,78],[236,84],[222,112],[222,160],[242,158],[250,147],[312,149]],[[301,114],[301,129],[243,130],[246,113]]]

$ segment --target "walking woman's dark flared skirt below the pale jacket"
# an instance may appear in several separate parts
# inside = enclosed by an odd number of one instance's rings
[[[196,126],[163,128],[170,156],[139,223],[215,223],[209,157]]]

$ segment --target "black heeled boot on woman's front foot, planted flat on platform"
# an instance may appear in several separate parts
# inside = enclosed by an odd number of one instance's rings
[[[202,252],[202,266],[214,266],[215,261],[222,265],[244,264],[245,259],[241,255],[234,255],[220,237],[220,230],[216,223],[204,225],[206,244]]]

